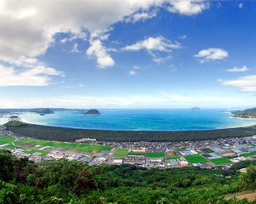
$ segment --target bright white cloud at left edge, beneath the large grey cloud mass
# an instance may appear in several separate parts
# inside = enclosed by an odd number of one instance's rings
[[[18,68],[0,65],[0,87],[7,86],[47,86],[49,75],[64,76],[61,71],[45,66],[35,66],[20,71]]]

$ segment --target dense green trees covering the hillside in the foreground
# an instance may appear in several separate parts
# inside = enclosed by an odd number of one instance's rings
[[[224,197],[241,186],[255,189],[255,176],[254,167],[239,176],[235,170],[147,170],[66,160],[37,164],[0,150],[0,203],[249,203]]]

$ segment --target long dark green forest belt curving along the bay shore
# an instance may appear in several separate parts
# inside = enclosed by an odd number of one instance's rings
[[[99,141],[200,141],[217,138],[234,138],[256,135],[256,125],[222,130],[187,131],[118,131],[89,130],[70,127],[51,127],[24,122],[7,122],[7,130],[20,136],[52,141],[75,141],[78,138],[95,138]]]

